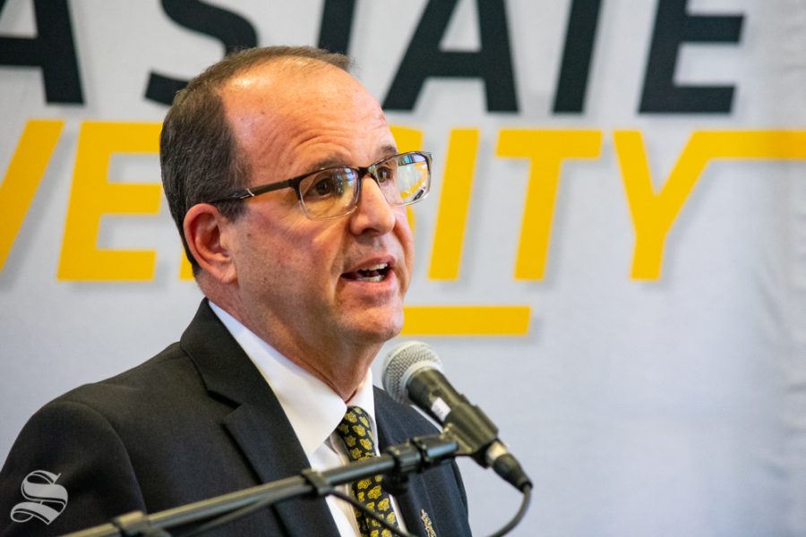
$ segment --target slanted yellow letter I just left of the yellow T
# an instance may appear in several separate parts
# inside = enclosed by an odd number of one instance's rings
[[[450,132],[440,209],[431,249],[429,277],[432,279],[459,277],[479,138],[478,129],[455,129]]]

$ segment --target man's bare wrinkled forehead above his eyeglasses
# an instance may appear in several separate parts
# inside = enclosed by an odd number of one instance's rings
[[[377,100],[329,64],[261,65],[236,75],[222,98],[253,175],[281,179],[315,167],[365,165],[394,146]]]

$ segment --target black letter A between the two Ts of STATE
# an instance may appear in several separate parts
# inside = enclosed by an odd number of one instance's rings
[[[412,110],[429,77],[484,80],[487,110],[517,112],[510,31],[503,0],[476,0],[481,49],[440,50],[457,0],[429,0],[398,73],[383,101],[388,110]]]

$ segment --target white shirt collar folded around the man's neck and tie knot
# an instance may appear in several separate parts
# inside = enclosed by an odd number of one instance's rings
[[[210,308],[269,383],[306,456],[327,441],[347,412],[347,405],[363,408],[371,418],[373,432],[377,433],[372,370],[367,370],[361,387],[345,403],[322,380],[279,354],[227,311],[212,302]]]

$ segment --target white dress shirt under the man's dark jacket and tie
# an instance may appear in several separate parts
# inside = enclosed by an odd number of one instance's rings
[[[227,311],[211,302],[210,308],[269,383],[313,469],[327,470],[349,461],[343,442],[334,432],[347,412],[347,405],[360,406],[369,414],[373,438],[376,439],[375,455],[378,455],[372,371],[366,372],[361,387],[345,403],[322,380],[279,354],[274,347],[257,337]],[[350,493],[347,485],[343,486],[343,490],[347,494]],[[327,502],[330,514],[339,528],[339,535],[343,537],[360,535],[353,507],[346,501],[332,496],[327,498]],[[391,503],[398,515],[401,528],[405,527],[394,498],[391,499]]]

